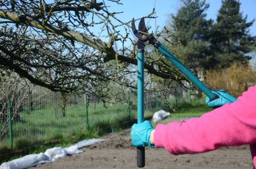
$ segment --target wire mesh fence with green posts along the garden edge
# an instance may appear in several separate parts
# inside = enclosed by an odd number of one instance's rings
[[[129,90],[125,92],[124,102],[108,104],[108,108],[104,108],[95,96],[66,96],[38,86],[14,90],[12,94],[0,98],[0,141],[2,145],[11,147],[22,139],[47,141],[85,132],[90,127],[98,127],[99,123],[112,126],[115,119],[135,118],[137,108],[137,96]],[[144,107],[153,114],[154,110],[178,106],[191,98],[191,92],[185,92],[182,88],[168,94],[150,92],[145,94]],[[11,116],[8,115],[8,100]]]

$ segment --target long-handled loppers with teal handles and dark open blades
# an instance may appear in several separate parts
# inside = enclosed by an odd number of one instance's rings
[[[170,53],[154,36],[148,33],[145,20],[142,18],[139,21],[139,30],[135,28],[135,20],[131,22],[133,34],[138,38],[137,40],[137,123],[144,121],[143,116],[143,90],[144,90],[144,48],[145,42],[149,42],[158,49],[183,75],[192,81],[199,90],[205,93],[210,100],[218,98],[209,88],[207,88],[199,79],[191,73],[172,53]],[[145,147],[137,147],[137,166],[145,166]]]

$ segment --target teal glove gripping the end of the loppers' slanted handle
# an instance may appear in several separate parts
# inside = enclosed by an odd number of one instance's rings
[[[232,103],[236,101],[236,98],[225,92],[224,90],[217,90],[217,91],[212,91],[214,94],[216,94],[219,98],[216,100],[210,101],[210,98],[206,97],[205,98],[205,103],[209,107],[220,107],[223,106],[226,103]]]

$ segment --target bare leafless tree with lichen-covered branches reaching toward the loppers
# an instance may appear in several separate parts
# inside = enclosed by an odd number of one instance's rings
[[[110,11],[121,0],[2,0],[0,5],[1,69],[53,91],[84,92],[104,100],[113,83],[136,88],[130,22],[119,20],[121,11]],[[172,81],[182,85],[183,75],[156,57],[154,48],[147,51],[148,73],[168,81],[162,83],[167,88]]]

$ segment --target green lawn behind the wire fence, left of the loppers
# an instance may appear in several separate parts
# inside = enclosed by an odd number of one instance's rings
[[[34,140],[49,140],[59,137],[60,134],[62,137],[67,137],[77,133],[77,131],[88,131],[86,129],[85,109],[85,106],[82,105],[68,106],[65,117],[62,116],[61,112],[55,115],[53,108],[34,110],[29,114],[21,113],[23,121],[14,124],[14,133],[18,133],[14,137],[32,138],[31,136],[33,136]],[[126,115],[123,113],[122,105],[110,108],[103,108],[102,105],[98,105],[95,114],[92,114],[91,109],[89,106],[89,126],[92,128],[95,124],[112,123],[117,117]],[[25,128],[24,125],[26,125]]]

